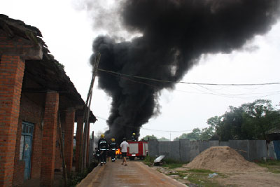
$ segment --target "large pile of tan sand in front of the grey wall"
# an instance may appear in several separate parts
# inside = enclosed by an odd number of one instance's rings
[[[253,162],[248,162],[235,149],[228,146],[214,146],[197,155],[195,159],[183,165],[192,169],[210,169],[216,172],[264,171]]]

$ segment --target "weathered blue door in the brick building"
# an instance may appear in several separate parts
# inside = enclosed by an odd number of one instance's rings
[[[25,160],[25,180],[30,179],[31,172],[31,150],[32,150],[32,135],[33,135],[32,123],[22,122],[22,160]]]

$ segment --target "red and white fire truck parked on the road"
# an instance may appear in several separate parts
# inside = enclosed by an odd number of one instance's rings
[[[134,160],[135,157],[144,160],[148,155],[148,141],[127,141],[127,143],[130,144],[127,152],[130,160]]]

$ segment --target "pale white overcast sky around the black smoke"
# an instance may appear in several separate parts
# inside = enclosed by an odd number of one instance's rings
[[[113,2],[104,0],[113,7]],[[43,41],[55,59],[64,64],[67,76],[83,99],[86,99],[92,76],[89,59],[92,41],[111,30],[94,27],[92,14],[82,0],[1,0],[0,13],[22,20],[40,29]],[[111,22],[113,25],[113,22]],[[279,83],[280,82],[280,22],[264,36],[255,36],[240,50],[231,54],[205,54],[188,71],[184,82],[192,83]],[[115,34],[131,39],[131,34],[119,30]],[[134,34],[135,35],[135,34]],[[194,128],[208,127],[207,119],[221,116],[228,106],[240,106],[255,99],[270,99],[280,109],[280,85],[221,86],[177,83],[174,90],[160,92],[160,114],[142,126],[140,137],[174,139]],[[91,109],[97,122],[90,131],[101,134],[108,130],[111,98],[98,88],[95,81]]]

